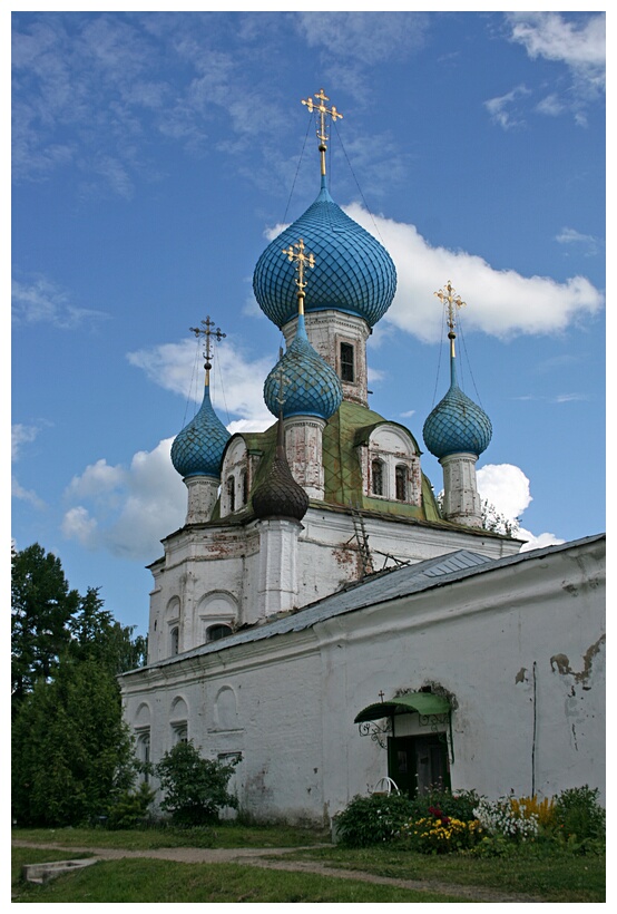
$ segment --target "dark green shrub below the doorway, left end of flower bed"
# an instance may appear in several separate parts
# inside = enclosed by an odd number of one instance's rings
[[[334,823],[342,844],[369,847],[393,840],[413,814],[412,800],[400,794],[354,797]]]

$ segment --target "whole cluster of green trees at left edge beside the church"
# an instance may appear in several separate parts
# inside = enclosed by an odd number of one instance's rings
[[[146,640],[89,587],[69,590],[38,544],[12,556],[12,801],[20,825],[107,815],[138,764],[117,674],[145,661]]]

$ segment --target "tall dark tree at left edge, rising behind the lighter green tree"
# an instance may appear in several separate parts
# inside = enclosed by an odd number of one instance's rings
[[[57,668],[80,597],[69,590],[60,560],[38,543],[11,558],[11,693],[19,704]]]

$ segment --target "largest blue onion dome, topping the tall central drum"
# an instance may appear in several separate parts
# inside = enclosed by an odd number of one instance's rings
[[[284,327],[296,315],[294,268],[281,253],[298,237],[316,261],[307,312],[344,311],[363,318],[369,327],[385,314],[396,291],[394,263],[385,247],[334,203],[323,177],[313,205],[257,261],[253,290],[271,321]]]

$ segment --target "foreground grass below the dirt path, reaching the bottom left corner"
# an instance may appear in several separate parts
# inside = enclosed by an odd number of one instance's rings
[[[18,848],[23,849],[23,848]],[[28,862],[31,862],[30,859]],[[457,903],[462,898],[412,892],[354,879],[324,878],[238,864],[186,864],[169,860],[109,860],[58,876],[47,885],[13,883],[13,903],[195,903],[195,902],[410,902]]]

